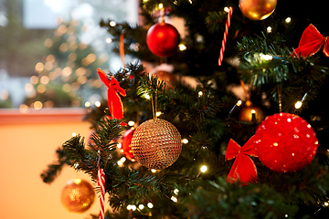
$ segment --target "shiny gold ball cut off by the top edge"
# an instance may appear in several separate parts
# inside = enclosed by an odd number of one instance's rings
[[[264,20],[274,12],[277,0],[239,0],[239,8],[251,20]]]

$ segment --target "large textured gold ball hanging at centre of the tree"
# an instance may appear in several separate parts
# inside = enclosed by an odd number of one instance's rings
[[[179,131],[167,120],[146,120],[133,132],[133,156],[149,169],[171,166],[182,151]]]

